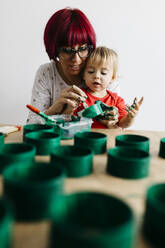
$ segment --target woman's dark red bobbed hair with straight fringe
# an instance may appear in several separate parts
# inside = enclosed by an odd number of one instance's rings
[[[46,24],[44,44],[50,59],[62,46],[88,43],[96,47],[96,34],[86,15],[79,9],[64,8],[55,12]]]

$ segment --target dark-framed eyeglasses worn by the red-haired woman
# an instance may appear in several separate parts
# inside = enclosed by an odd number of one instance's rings
[[[79,47],[77,50],[72,47],[61,47],[59,53],[63,59],[71,59],[77,53],[80,58],[87,58],[93,50],[92,45]]]

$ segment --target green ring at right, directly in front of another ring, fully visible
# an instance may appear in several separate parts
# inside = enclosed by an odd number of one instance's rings
[[[150,155],[143,150],[118,146],[108,150],[107,172],[116,177],[138,179],[149,174]]]

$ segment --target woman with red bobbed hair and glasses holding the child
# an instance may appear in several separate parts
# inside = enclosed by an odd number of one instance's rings
[[[61,9],[46,25],[44,44],[51,61],[36,73],[31,104],[47,115],[72,114],[86,98],[79,88],[83,87],[81,71],[96,47],[95,31],[79,9]],[[41,121],[29,113],[27,123]]]

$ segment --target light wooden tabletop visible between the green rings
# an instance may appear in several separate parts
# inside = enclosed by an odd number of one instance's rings
[[[68,178],[65,183],[66,193],[77,191],[103,192],[123,199],[133,210],[139,226],[136,248],[151,248],[143,239],[141,226],[145,210],[145,194],[149,185],[165,181],[165,160],[158,157],[160,139],[165,131],[136,131],[117,129],[93,129],[94,132],[108,136],[107,149],[115,146],[115,137],[119,134],[139,134],[150,138],[150,174],[144,179],[121,179],[106,173],[107,154],[94,156],[94,170],[89,176]],[[22,131],[8,134],[5,143],[22,142]],[[62,140],[61,145],[72,145],[73,140]],[[49,161],[49,156],[36,156],[37,161]],[[1,185],[2,188],[2,185]],[[2,191],[2,190],[1,190]],[[47,221],[15,223],[13,248],[47,248],[50,223]]]

